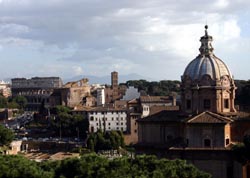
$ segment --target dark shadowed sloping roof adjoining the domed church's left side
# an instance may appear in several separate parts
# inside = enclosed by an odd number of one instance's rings
[[[179,111],[160,111],[148,117],[140,118],[138,122],[180,122],[183,117],[180,116]]]

